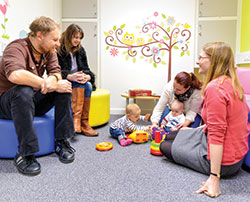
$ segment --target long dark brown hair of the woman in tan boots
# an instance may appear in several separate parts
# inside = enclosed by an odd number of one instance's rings
[[[63,51],[66,52],[66,55],[70,52],[75,55],[75,53],[81,48],[81,43],[76,47],[73,47],[71,43],[72,37],[77,33],[81,34],[81,39],[84,37],[82,28],[76,24],[69,25],[68,28],[62,33],[60,38],[61,47],[57,50],[59,55],[63,55]]]

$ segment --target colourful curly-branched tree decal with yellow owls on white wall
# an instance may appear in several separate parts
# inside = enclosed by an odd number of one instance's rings
[[[189,30],[191,26],[188,23],[176,23],[174,17],[167,17],[165,14],[161,15],[161,22],[157,23],[158,12],[154,13],[154,17],[154,20],[151,21],[148,17],[143,26],[136,26],[137,29],[141,30],[137,39],[133,33],[126,32],[124,34],[125,24],[120,27],[113,26],[112,30],[104,32],[107,44],[106,50],[109,50],[112,56],[117,56],[119,49],[124,49],[125,51],[122,54],[125,55],[126,60],[132,58],[135,63],[139,57],[152,63],[155,68],[159,64],[167,65],[163,60],[167,52],[168,81],[170,81],[173,49],[179,50],[181,57],[185,54],[190,55],[188,44],[191,37],[191,31]],[[147,39],[145,40],[145,38]]]

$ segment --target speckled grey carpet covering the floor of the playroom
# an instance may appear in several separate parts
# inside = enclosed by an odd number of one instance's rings
[[[244,170],[221,180],[223,194],[211,199],[195,193],[207,176],[151,155],[150,142],[121,147],[109,136],[108,124],[97,131],[98,137],[72,140],[77,150],[72,164],[60,163],[55,154],[39,157],[42,172],[35,177],[19,174],[13,160],[0,159],[0,202],[250,201],[250,173]],[[102,141],[114,148],[97,151]]]

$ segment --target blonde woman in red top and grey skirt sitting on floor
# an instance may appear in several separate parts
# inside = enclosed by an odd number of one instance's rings
[[[174,162],[209,175],[196,193],[217,197],[221,194],[220,176],[236,174],[248,151],[249,109],[227,44],[206,44],[197,64],[199,73],[206,75],[202,88],[204,125],[170,134],[160,149]]]

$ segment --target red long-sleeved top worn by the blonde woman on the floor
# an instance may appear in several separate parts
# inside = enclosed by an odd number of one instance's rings
[[[246,101],[234,97],[231,79],[221,76],[206,87],[202,119],[207,133],[207,152],[210,144],[223,145],[222,165],[239,162],[248,151],[249,108]]]

